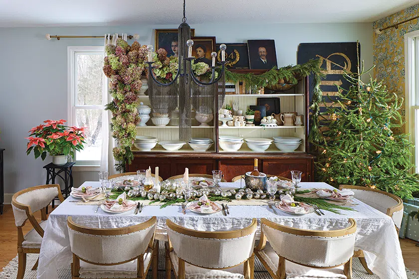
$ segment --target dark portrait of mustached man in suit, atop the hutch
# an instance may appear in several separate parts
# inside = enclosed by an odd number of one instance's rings
[[[250,69],[277,68],[275,40],[247,40]]]

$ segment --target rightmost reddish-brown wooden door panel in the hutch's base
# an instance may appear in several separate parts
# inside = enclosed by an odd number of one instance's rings
[[[266,174],[291,178],[291,170],[299,170],[303,172],[301,181],[311,181],[312,179],[310,159],[266,159],[262,164],[263,172]]]

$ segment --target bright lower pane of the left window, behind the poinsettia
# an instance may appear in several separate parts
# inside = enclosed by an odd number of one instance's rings
[[[76,161],[100,161],[102,146],[102,110],[76,109],[76,126],[85,130],[84,149],[76,152]]]

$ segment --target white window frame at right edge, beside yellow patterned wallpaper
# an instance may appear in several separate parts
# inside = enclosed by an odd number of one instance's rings
[[[405,34],[405,107],[407,132],[415,147],[411,161],[419,172],[419,30]]]

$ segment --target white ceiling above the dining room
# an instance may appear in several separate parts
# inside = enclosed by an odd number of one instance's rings
[[[419,0],[187,0],[189,23],[372,22]],[[0,0],[0,27],[178,24],[182,0]]]

